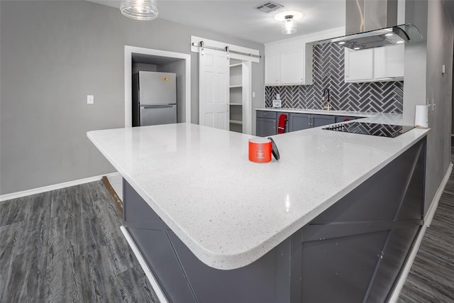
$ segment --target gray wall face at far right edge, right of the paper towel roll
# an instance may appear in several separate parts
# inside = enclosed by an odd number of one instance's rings
[[[429,109],[431,133],[427,141],[426,210],[436,194],[450,163],[454,28],[441,0],[428,1],[427,99],[435,99]],[[441,73],[441,66],[446,72]]]

